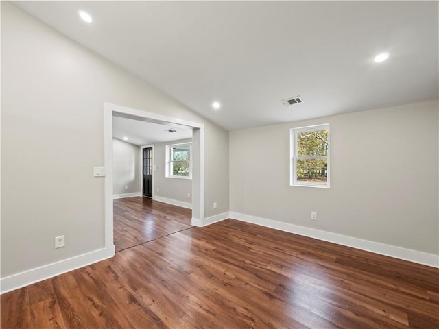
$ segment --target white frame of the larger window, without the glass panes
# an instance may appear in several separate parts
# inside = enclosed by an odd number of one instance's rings
[[[327,156],[297,156],[297,134],[300,132],[311,132],[313,130],[328,130],[328,152]],[[330,173],[331,164],[329,163],[330,151],[331,151],[331,138],[330,138],[329,123],[323,125],[309,125],[307,127],[291,128],[289,130],[289,185],[290,186],[305,186],[305,187],[318,187],[329,188],[330,187]],[[297,180],[297,160],[306,159],[327,159],[327,182],[305,182]]]

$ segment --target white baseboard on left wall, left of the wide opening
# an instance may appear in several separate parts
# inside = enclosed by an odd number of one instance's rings
[[[54,276],[59,276],[62,273],[73,271],[101,260],[111,258],[115,255],[115,246],[110,249],[98,249],[94,252],[88,252],[72,258],[60,260],[56,263],[51,263],[35,269],[29,269],[21,273],[16,273],[12,276],[7,276],[0,279],[0,293],[7,293],[15,289],[19,289],[29,284],[40,282]]]

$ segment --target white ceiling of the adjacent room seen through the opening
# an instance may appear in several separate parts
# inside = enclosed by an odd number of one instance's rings
[[[171,128],[176,132],[167,132]],[[160,125],[135,119],[112,117],[112,136],[121,141],[142,146],[192,138],[192,128],[185,125]],[[128,140],[124,138],[128,138]]]

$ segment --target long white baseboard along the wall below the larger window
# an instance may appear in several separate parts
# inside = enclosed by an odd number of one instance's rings
[[[413,263],[428,265],[431,267],[439,267],[439,256],[435,254],[427,254],[426,252],[418,252],[412,249],[395,247],[394,245],[385,245],[384,243],[353,238],[352,236],[316,230],[314,228],[306,228],[305,226],[283,223],[281,221],[273,221],[271,219],[252,215],[240,214],[239,212],[230,211],[230,218],[268,228],[274,228],[276,230],[309,236],[310,238],[337,243],[339,245],[346,245],[348,247],[366,250],[367,252],[374,252],[375,254],[408,260]]]

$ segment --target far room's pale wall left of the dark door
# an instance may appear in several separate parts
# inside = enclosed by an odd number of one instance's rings
[[[140,193],[140,160],[139,146],[112,140],[112,193]],[[127,189],[126,189],[127,188]]]

